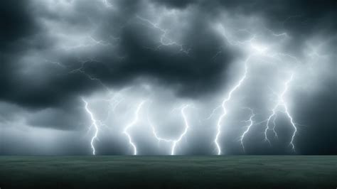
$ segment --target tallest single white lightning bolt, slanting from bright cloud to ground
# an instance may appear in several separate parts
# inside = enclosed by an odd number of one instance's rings
[[[245,63],[245,73],[242,75],[242,77],[237,82],[237,84],[234,87],[232,87],[232,90],[230,90],[230,92],[228,93],[228,96],[223,100],[223,103],[221,104],[221,107],[223,108],[223,114],[221,114],[220,117],[219,117],[219,119],[218,119],[218,122],[217,122],[217,134],[216,134],[215,139],[214,139],[214,143],[215,143],[215,145],[216,145],[216,147],[218,149],[218,155],[221,155],[221,146],[220,146],[218,140],[219,140],[219,137],[220,137],[220,134],[221,134],[221,124],[222,124],[222,121],[225,118],[225,116],[227,115],[226,104],[232,98],[232,93],[235,92],[235,90],[237,90],[242,85],[242,82],[247,77],[247,71],[248,71],[247,61],[248,60],[249,60],[249,58],[246,60],[246,63]]]

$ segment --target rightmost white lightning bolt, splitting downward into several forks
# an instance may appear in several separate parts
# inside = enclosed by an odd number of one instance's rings
[[[277,137],[277,132],[275,131],[275,127],[276,127],[275,120],[276,120],[276,117],[277,117],[277,111],[278,111],[279,107],[283,107],[284,108],[284,114],[287,115],[291,126],[294,128],[294,132],[291,135],[291,141],[290,141],[289,145],[291,146],[292,150],[295,151],[294,138],[296,136],[297,127],[296,127],[296,124],[294,123],[294,119],[291,117],[291,114],[289,113],[287,103],[284,100],[284,95],[287,93],[287,91],[289,89],[289,83],[292,81],[293,77],[294,77],[294,74],[291,74],[289,79],[286,82],[284,82],[284,89],[281,92],[281,94],[278,95],[277,104],[275,104],[274,108],[272,109],[272,114],[270,114],[268,119],[267,119],[266,129],[264,130],[264,140],[268,141],[268,143],[270,144],[270,141],[269,141],[268,136],[267,136],[268,130],[272,130],[273,133],[274,133],[274,136]],[[270,121],[272,121],[272,128],[270,128]]]

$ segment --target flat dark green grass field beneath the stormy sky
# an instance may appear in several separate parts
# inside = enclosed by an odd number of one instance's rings
[[[0,156],[0,188],[337,188],[337,156]]]

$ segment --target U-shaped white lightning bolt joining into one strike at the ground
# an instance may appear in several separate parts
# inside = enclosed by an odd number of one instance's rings
[[[188,128],[190,127],[188,124],[188,118],[185,114],[185,109],[188,107],[188,104],[185,104],[181,107],[181,116],[183,117],[183,123],[185,125],[185,128],[183,130],[183,132],[181,133],[181,135],[178,137],[178,139],[164,139],[161,138],[157,133],[156,133],[156,128],[154,126],[154,124],[151,123],[151,121],[149,120],[149,124],[151,126],[152,129],[152,133],[154,134],[154,137],[158,140],[158,141],[165,141],[165,142],[171,142],[172,146],[171,146],[171,156],[175,155],[175,151],[176,151],[176,145],[181,141],[181,139],[183,139],[183,136],[185,136],[187,134]]]

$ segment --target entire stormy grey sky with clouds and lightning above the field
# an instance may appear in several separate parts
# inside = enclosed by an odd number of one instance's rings
[[[0,5],[0,155],[337,154],[336,1]]]

